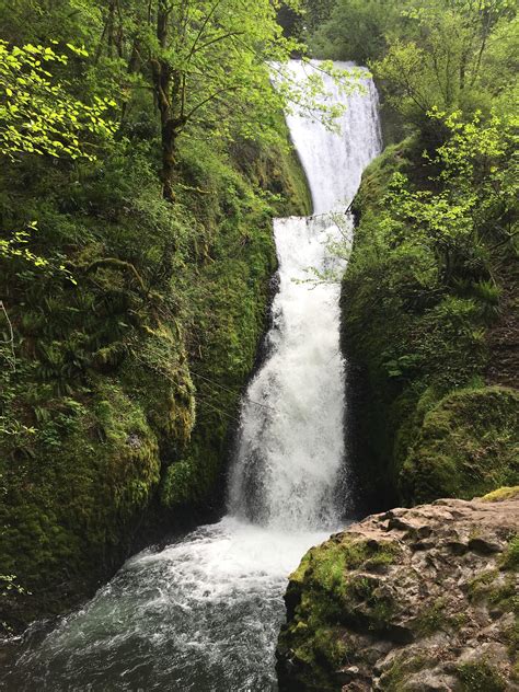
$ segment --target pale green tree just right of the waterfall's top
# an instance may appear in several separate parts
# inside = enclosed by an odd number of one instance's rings
[[[509,0],[423,0],[403,14],[410,31],[372,65],[390,102],[424,123],[432,106],[450,113],[477,107],[489,37],[515,15]]]

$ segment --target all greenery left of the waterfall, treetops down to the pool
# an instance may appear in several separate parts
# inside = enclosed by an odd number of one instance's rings
[[[0,10],[5,625],[215,505],[270,220],[310,208],[265,65],[292,44],[220,4],[182,3],[184,38],[162,1]]]

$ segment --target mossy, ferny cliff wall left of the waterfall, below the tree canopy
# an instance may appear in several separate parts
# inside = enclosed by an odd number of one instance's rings
[[[199,165],[199,157],[207,165]],[[288,159],[286,165],[295,170]],[[4,274],[16,369],[2,372],[7,435],[0,445],[12,498],[2,518],[2,554],[35,595],[44,583],[51,593],[64,569],[71,585],[70,598],[20,596],[26,604],[16,608],[25,618],[67,607],[118,564],[160,480],[170,522],[215,496],[229,427],[264,328],[275,266],[274,207],[223,151],[186,147],[183,166],[182,206],[161,199],[139,147],[116,148],[102,171],[83,172],[81,188],[69,186],[68,174],[61,182],[55,176],[37,208],[38,255],[68,245],[78,286],[45,275],[36,289],[39,270],[22,265],[8,265]],[[36,189],[43,184],[34,178]],[[23,200],[34,189],[16,194]],[[293,193],[289,204],[302,210]],[[5,211],[9,218],[12,210]],[[124,396],[105,394],[97,404],[100,381],[107,378],[109,390],[122,388]],[[134,407],[128,416],[126,400]],[[79,417],[64,411],[70,411],[67,402],[81,405]],[[124,431],[114,431],[115,412]],[[127,471],[103,474],[103,468]],[[35,492],[22,495],[27,483]],[[58,486],[78,488],[73,507]],[[101,501],[124,507],[125,519],[100,512]],[[86,558],[99,565],[88,583]]]

